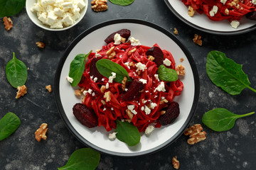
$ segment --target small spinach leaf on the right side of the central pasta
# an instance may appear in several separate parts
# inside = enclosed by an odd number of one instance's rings
[[[159,79],[162,81],[176,81],[178,79],[176,70],[166,68],[164,64],[159,66],[157,69],[157,74],[159,74]]]

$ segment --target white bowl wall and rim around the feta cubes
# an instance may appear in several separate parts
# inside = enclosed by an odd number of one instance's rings
[[[50,28],[50,26],[47,26],[47,25],[43,24],[40,20],[38,20],[38,17],[36,15],[36,13],[33,13],[31,11],[31,8],[34,6],[34,4],[37,3],[37,1],[38,0],[27,0],[26,1],[26,12],[28,13],[28,17],[31,19],[31,21],[33,23],[36,24],[36,26],[41,27],[41,28],[43,28],[45,30],[52,30],[52,31],[67,30],[69,28],[72,28],[73,26],[75,26],[76,24],[78,24],[82,20],[82,18],[85,16],[85,13],[86,13],[87,7],[88,7],[88,0],[84,0],[86,6],[85,6],[85,8],[82,8],[82,10],[80,11],[79,18],[75,21],[75,23],[73,25],[68,26],[68,27],[63,26],[63,28],[59,28],[59,29],[58,28],[57,29],[55,29],[55,28],[53,29],[53,28]]]

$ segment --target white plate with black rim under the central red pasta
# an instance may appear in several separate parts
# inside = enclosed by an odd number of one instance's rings
[[[101,49],[102,45],[106,45],[105,38],[122,28],[131,30],[131,36],[139,39],[142,45],[153,46],[158,43],[161,49],[169,50],[174,56],[176,64],[179,64],[179,60],[183,57],[182,64],[186,68],[186,76],[181,79],[184,89],[181,96],[175,98],[175,101],[180,105],[180,115],[171,125],[156,128],[149,137],[142,134],[139,145],[135,147],[128,147],[124,142],[120,142],[117,139],[110,141],[108,139],[110,132],[107,132],[105,128],[89,129],[79,123],[73,115],[72,108],[75,103],[81,103],[81,99],[74,95],[74,89],[65,79],[68,76],[70,62],[75,55],[80,53],[87,54],[90,50],[95,52],[95,50]],[[190,53],[169,31],[146,21],[122,19],[100,23],[85,30],[70,44],[62,60],[60,60],[55,74],[54,91],[61,117],[68,129],[82,143],[99,152],[129,157],[155,152],[174,142],[183,133],[193,117],[193,113],[196,111],[199,96],[199,79],[196,64],[193,62]]]

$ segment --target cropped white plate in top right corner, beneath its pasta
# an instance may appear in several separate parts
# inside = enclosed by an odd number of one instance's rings
[[[203,30],[207,33],[214,33],[219,35],[235,35],[240,33],[247,33],[256,29],[256,21],[252,21],[245,17],[240,20],[240,26],[237,29],[230,26],[228,20],[211,21],[205,13],[195,13],[193,17],[188,16],[188,7],[185,6],[181,0],[164,0],[170,10],[184,23],[187,23],[193,28]]]

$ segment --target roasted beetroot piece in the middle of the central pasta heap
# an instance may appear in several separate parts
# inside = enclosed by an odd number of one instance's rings
[[[128,91],[122,95],[123,101],[132,101],[142,89],[144,89],[144,84],[141,81],[133,80],[128,87]]]

